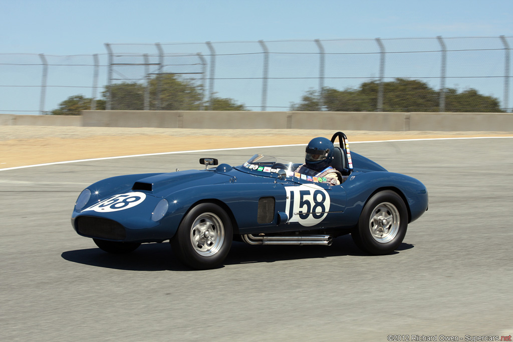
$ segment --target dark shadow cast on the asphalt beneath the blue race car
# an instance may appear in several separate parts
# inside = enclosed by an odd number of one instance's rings
[[[393,254],[413,248],[413,245],[402,243]],[[357,255],[373,257],[362,252],[345,235],[333,240],[332,246],[249,246],[244,243],[233,242],[230,252],[223,265],[240,265],[254,263],[275,263],[283,260],[314,259],[327,257],[340,257],[344,255]],[[168,243],[143,244],[130,254],[109,254],[99,248],[89,248],[67,251],[61,256],[73,263],[112,268],[129,271],[191,271],[177,260]],[[223,266],[221,266],[223,267]]]

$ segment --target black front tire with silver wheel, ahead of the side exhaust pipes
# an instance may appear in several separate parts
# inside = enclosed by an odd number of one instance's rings
[[[183,264],[198,270],[219,267],[230,251],[233,227],[218,205],[202,203],[192,208],[171,239],[173,253]]]

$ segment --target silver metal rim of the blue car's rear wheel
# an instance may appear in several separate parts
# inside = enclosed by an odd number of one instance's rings
[[[400,224],[399,210],[389,202],[379,204],[370,214],[370,234],[374,240],[381,244],[390,242],[396,237]]]

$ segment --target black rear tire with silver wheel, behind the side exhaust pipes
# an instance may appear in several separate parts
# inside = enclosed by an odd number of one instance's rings
[[[408,210],[396,192],[374,194],[363,207],[351,237],[363,251],[374,255],[390,254],[403,242],[408,228]]]

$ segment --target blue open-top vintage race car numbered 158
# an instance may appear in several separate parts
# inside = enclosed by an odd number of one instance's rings
[[[344,133],[335,133],[331,142],[337,138],[331,166],[343,175],[340,185],[312,176],[304,165],[263,154],[234,167],[202,158],[205,170],[94,183],[78,196],[71,223],[109,253],[170,240],[175,255],[195,269],[220,266],[233,239],[329,246],[333,238],[351,234],[367,253],[391,253],[408,223],[427,210],[426,187],[351,153]]]

